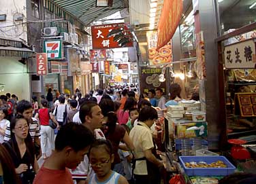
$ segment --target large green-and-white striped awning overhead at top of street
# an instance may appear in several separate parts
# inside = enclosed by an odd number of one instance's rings
[[[96,0],[44,0],[44,3],[50,12],[55,12],[61,18],[71,21],[71,23],[75,23],[74,18],[76,18],[86,26],[128,6],[124,0],[113,0],[112,7],[96,7]]]

